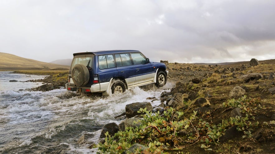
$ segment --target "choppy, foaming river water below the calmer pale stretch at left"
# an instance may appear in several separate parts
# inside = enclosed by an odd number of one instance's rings
[[[17,83],[14,83],[17,84]],[[0,91],[0,153],[96,153],[77,143],[83,134],[98,143],[102,127],[125,112],[126,104],[159,98],[163,89],[134,88],[106,98],[86,96],[65,89],[48,92]],[[21,88],[20,88],[21,89]],[[160,101],[151,102],[152,106]]]

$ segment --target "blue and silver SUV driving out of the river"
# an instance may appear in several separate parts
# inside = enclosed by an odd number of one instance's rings
[[[167,74],[164,63],[150,62],[136,50],[74,53],[66,89],[103,95],[123,93],[151,83],[164,86]]]

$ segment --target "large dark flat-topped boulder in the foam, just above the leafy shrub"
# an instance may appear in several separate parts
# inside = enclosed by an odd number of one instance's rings
[[[136,102],[136,103],[127,104],[125,106],[126,118],[131,118],[137,115],[141,115],[141,113],[138,113],[140,108],[147,108],[147,111],[152,111],[153,109],[151,103],[149,102],[142,102],[142,103]]]

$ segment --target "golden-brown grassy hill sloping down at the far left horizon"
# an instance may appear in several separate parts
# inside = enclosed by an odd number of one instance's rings
[[[69,66],[45,63],[33,59],[27,59],[16,55],[0,52],[0,70],[22,70],[22,69],[69,69]]]

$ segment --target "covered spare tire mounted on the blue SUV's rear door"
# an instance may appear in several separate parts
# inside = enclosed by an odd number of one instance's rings
[[[85,86],[89,81],[90,73],[83,64],[76,64],[72,69],[72,79],[76,86]]]

